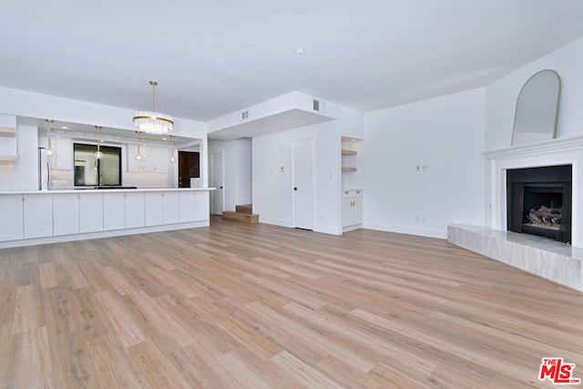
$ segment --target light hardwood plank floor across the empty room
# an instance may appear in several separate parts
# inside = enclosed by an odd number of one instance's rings
[[[0,387],[552,386],[583,296],[446,241],[264,224],[0,250]]]

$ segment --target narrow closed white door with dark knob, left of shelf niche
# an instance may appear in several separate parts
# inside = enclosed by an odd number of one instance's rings
[[[293,227],[313,230],[313,147],[312,139],[293,141],[292,207]]]

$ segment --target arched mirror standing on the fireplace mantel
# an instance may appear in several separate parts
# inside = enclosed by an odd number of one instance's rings
[[[541,70],[520,90],[512,146],[555,138],[561,80],[554,70]]]

